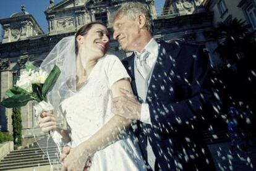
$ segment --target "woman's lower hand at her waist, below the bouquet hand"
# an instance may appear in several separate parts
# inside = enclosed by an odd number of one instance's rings
[[[82,146],[70,148],[66,146],[63,148],[60,160],[63,161],[64,168],[72,171],[87,170],[90,165],[85,166],[88,159],[88,153]]]

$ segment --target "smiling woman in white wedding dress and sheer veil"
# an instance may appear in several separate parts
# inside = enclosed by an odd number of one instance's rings
[[[61,69],[48,94],[54,112],[42,112],[39,125],[45,133],[57,130],[62,141],[71,140],[61,155],[66,170],[146,170],[128,129],[132,121],[113,114],[111,99],[122,95],[121,88],[132,89],[126,69],[116,56],[106,54],[108,48],[108,30],[93,22],[59,41],[41,64],[45,70],[54,64]],[[70,132],[57,127],[59,112]]]

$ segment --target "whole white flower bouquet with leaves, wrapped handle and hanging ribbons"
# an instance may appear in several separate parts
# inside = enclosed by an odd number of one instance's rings
[[[28,101],[33,101],[33,107],[36,111],[35,118],[38,119],[41,112],[53,110],[53,106],[47,102],[46,95],[53,89],[61,70],[59,70],[57,65],[54,65],[53,69],[48,74],[44,70],[36,68],[31,62],[26,62],[25,67],[26,71],[22,72],[16,85],[6,91],[7,98],[3,99],[0,105],[7,108],[22,107],[25,106]],[[56,142],[59,154],[61,154],[62,136],[56,130],[51,130],[47,135],[46,150],[42,148],[44,146],[40,146],[40,148],[46,152],[51,164],[51,159],[48,154],[49,135],[51,135],[54,142]],[[36,139],[37,136],[35,134],[34,136]]]

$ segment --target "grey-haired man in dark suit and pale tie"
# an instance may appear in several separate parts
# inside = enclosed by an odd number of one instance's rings
[[[113,15],[114,40],[132,56],[122,60],[137,99],[113,99],[118,114],[138,120],[135,133],[148,170],[215,170],[198,120],[211,97],[210,64],[201,46],[157,43],[147,6],[123,4]]]

